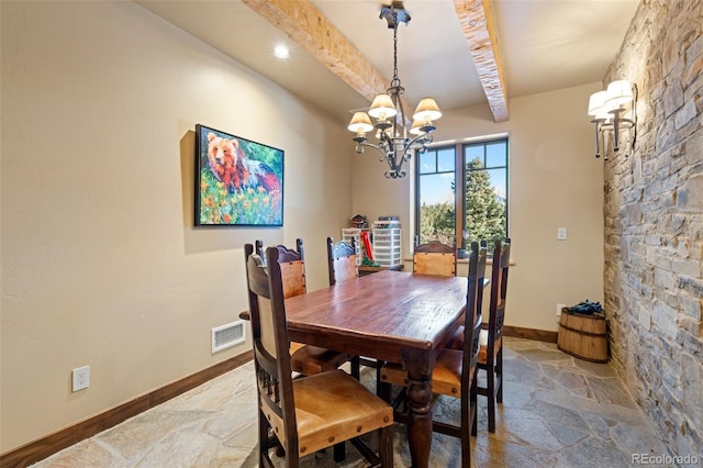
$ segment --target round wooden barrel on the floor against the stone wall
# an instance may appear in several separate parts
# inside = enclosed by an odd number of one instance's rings
[[[607,323],[602,313],[584,315],[561,310],[557,347],[592,363],[607,363]]]

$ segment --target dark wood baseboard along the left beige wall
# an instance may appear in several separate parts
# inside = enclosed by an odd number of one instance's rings
[[[121,422],[135,416],[146,410],[157,406],[181,393],[192,390],[202,383],[214,379],[230,370],[248,363],[254,353],[248,350],[207,369],[183,377],[165,387],[140,395],[111,410],[104,411],[69,427],[59,430],[45,437],[30,442],[0,456],[0,467],[26,467],[44,458],[70,447],[80,441],[113,427]]]

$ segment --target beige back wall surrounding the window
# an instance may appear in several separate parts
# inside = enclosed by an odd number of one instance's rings
[[[437,121],[435,142],[510,134],[509,229],[516,266],[510,272],[509,325],[557,331],[557,303],[603,296],[603,163],[593,156],[585,113],[600,87],[512,99],[511,119],[500,124],[483,105],[448,111]],[[399,214],[408,257],[411,181],[386,180],[383,171],[376,154],[355,157],[354,211],[369,220]],[[557,241],[557,227],[567,227],[567,241]]]

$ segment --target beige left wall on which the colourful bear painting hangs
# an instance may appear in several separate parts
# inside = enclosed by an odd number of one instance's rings
[[[286,151],[283,229],[192,227],[197,123]],[[245,242],[326,285],[346,129],[134,3],[3,1],[2,125],[2,453],[249,349]]]

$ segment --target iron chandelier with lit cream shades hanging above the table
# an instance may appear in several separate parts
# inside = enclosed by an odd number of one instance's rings
[[[436,130],[433,121],[442,116],[442,112],[433,98],[423,98],[415,113],[413,123],[408,130],[406,114],[403,110],[401,97],[405,89],[398,77],[398,24],[410,24],[410,14],[403,8],[402,1],[394,1],[391,5],[381,8],[381,19],[388,21],[388,27],[393,30],[393,79],[386,93],[373,98],[368,113],[358,111],[354,113],[348,129],[356,134],[356,152],[364,153],[368,146],[378,149],[381,154],[379,160],[388,163],[388,178],[401,178],[406,176],[403,164],[411,159],[414,152],[424,152],[427,144],[432,143],[432,132]],[[371,118],[376,123],[371,123]],[[366,134],[376,130],[377,143],[371,143]],[[408,134],[413,135],[408,136]]]

